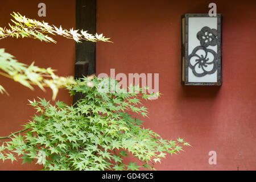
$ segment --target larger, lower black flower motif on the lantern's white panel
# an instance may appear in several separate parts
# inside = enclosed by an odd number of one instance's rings
[[[217,70],[217,55],[212,49],[197,46],[188,56],[189,68],[197,77],[213,74]]]

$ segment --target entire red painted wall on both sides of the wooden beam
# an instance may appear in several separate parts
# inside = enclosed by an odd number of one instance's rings
[[[0,26],[7,26],[12,11],[63,27],[75,27],[75,1],[43,1],[47,17],[39,18],[41,1],[5,1],[0,6]],[[223,19],[223,85],[180,84],[180,16],[208,13],[217,3]],[[151,114],[144,125],[165,139],[184,137],[193,147],[180,155],[167,156],[158,170],[255,170],[256,52],[255,1],[163,1],[98,0],[97,32],[114,42],[97,45],[97,73],[159,73],[159,100],[144,102]],[[61,76],[73,75],[75,43],[55,38],[57,44],[32,39],[6,39],[0,47],[16,59],[40,67],[58,69]],[[51,99],[39,89],[34,92],[0,77],[10,96],[0,96],[0,136],[17,131],[34,114],[27,100]],[[62,90],[58,98],[71,103]],[[209,151],[217,152],[217,165],[209,165]],[[240,156],[241,155],[241,156]],[[39,165],[0,162],[0,170],[40,169]]]

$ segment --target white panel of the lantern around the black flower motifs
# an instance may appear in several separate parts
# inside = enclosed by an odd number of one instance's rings
[[[188,55],[191,55],[193,51],[197,50],[196,47],[201,46],[200,40],[197,38],[197,34],[202,30],[203,27],[209,27],[214,28],[217,30],[217,17],[189,17],[188,18]],[[208,33],[208,35],[210,35]],[[205,37],[207,34],[205,33]],[[209,39],[211,40],[211,39]],[[208,41],[209,41],[208,40]],[[205,40],[207,41],[207,40]],[[216,46],[210,46],[208,45],[206,47],[207,50],[211,49],[212,51],[217,53],[217,45]],[[211,60],[214,56],[214,52],[205,52],[203,49],[198,48],[196,51],[196,56],[203,56],[207,54],[206,59]],[[196,59],[195,57],[192,57],[189,61],[196,64],[199,59]],[[209,61],[210,63],[210,61]],[[208,64],[204,69],[206,71],[210,71],[212,69],[213,65]],[[188,68],[188,82],[217,82],[217,70],[214,73],[207,74],[204,76],[196,76],[193,72],[196,73],[203,73],[204,70],[202,69],[202,66],[200,64],[197,64],[194,71],[192,71],[191,68]]]

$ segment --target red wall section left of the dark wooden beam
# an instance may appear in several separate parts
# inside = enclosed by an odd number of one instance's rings
[[[38,16],[38,4],[46,3],[46,17]],[[10,13],[19,12],[28,18],[44,20],[49,24],[55,24],[64,28],[75,27],[75,1],[1,1],[0,6],[0,27],[8,26]],[[57,75],[74,75],[75,64],[75,42],[59,36],[55,37],[57,44],[44,43],[34,39],[15,39],[6,38],[0,40],[0,48],[5,48],[6,52],[14,55],[22,63],[35,64],[39,67],[51,67],[57,69]],[[27,105],[28,99],[33,100],[37,97],[45,97],[51,100],[52,93],[50,89],[44,93],[35,88],[31,91],[28,88],[0,76],[0,84],[7,90],[10,96],[0,94],[0,136],[7,136],[11,132],[22,129],[24,123],[30,119],[35,110]],[[72,97],[65,90],[60,90],[57,100],[63,100],[66,103],[72,103]],[[11,164],[10,160],[5,163],[0,162],[0,170],[37,170],[40,165],[22,164],[22,160]]]

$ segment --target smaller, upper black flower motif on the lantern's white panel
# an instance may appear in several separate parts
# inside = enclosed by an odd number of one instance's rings
[[[217,40],[217,30],[214,28],[203,27],[196,35],[197,39],[200,40],[201,46],[216,46]]]

